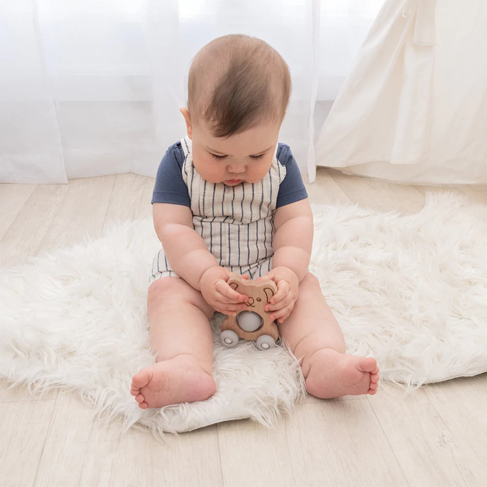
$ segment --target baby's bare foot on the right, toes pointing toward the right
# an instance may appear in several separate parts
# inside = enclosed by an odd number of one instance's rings
[[[306,389],[321,399],[375,394],[378,382],[375,358],[341,354],[329,348],[318,350],[310,357]]]

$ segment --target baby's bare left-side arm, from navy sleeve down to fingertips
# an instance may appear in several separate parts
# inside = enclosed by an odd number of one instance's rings
[[[218,264],[205,241],[194,231],[189,207],[154,203],[152,218],[166,258],[176,274],[200,291],[217,311],[229,314],[245,309],[242,303],[248,298],[226,283],[234,273]]]

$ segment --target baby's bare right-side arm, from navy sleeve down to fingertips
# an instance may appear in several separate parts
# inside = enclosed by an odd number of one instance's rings
[[[308,271],[313,244],[313,214],[307,198],[280,206],[274,216],[274,257],[272,270],[261,279],[272,279],[278,292],[266,311],[271,319],[284,321],[298,299],[299,283]]]

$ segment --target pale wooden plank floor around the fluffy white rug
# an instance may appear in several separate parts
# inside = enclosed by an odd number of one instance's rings
[[[101,236],[109,220],[151,214],[154,180],[0,185],[0,268]],[[415,213],[428,190],[318,168],[313,203]],[[487,186],[448,187],[487,204]],[[1,319],[1,317],[0,317]],[[0,337],[1,339],[1,337]],[[120,434],[75,393],[42,399],[0,379],[0,486],[486,486],[487,374],[404,395],[308,397],[275,430],[231,421],[169,437]]]

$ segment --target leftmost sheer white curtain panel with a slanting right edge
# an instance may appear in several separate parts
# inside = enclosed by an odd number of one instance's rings
[[[37,5],[9,3],[0,3],[0,181],[65,183]]]

